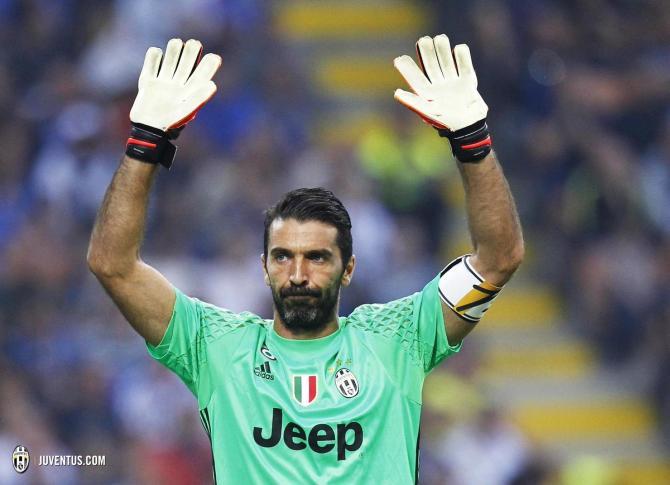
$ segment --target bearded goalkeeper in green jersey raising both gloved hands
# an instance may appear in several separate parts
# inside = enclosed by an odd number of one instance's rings
[[[395,59],[411,88],[395,98],[451,144],[473,253],[420,292],[339,316],[340,288],[356,266],[349,215],[327,190],[294,190],[265,217],[261,265],[272,320],[186,296],[140,258],[159,165],[170,167],[174,139],[216,92],[221,59],[200,60],[201,51],[198,41],[178,39],[164,53],[147,51],[89,267],[151,356],[197,398],[215,482],[415,482],[425,376],[458,352],[523,257],[469,50],[452,51],[445,35],[421,38],[418,65]]]

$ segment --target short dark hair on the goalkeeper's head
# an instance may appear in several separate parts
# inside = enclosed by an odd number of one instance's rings
[[[322,187],[302,188],[287,192],[265,211],[263,254],[268,255],[270,226],[275,219],[295,219],[299,222],[320,221],[337,229],[337,247],[346,266],[353,254],[351,219],[344,204],[330,190]]]

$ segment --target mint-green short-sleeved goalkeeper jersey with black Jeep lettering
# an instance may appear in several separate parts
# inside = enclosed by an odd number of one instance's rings
[[[416,481],[423,382],[460,347],[447,341],[437,278],[313,340],[176,292],[149,352],[197,397],[216,483]]]

